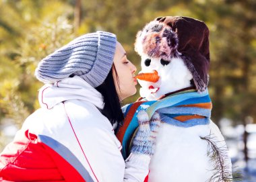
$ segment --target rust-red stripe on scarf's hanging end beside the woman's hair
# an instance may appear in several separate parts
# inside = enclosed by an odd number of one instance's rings
[[[131,105],[131,108],[129,109],[127,116],[125,117],[125,120],[123,122],[123,126],[119,129],[119,132],[117,132],[117,138],[119,141],[122,143],[123,142],[123,137],[125,136],[125,131],[128,128],[131,120],[133,119],[133,116],[135,114],[135,111],[137,110],[137,107],[141,105],[141,103],[146,102],[146,101],[137,101]]]

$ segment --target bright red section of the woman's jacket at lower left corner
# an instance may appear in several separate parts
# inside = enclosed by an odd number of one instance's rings
[[[85,182],[55,150],[20,130],[0,154],[0,181]]]

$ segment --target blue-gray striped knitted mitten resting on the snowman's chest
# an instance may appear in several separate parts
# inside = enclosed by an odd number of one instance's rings
[[[131,152],[137,154],[154,154],[154,145],[156,140],[157,130],[160,125],[160,117],[158,113],[154,113],[149,121],[146,111],[139,111],[137,114],[139,121],[139,129],[133,139]]]

